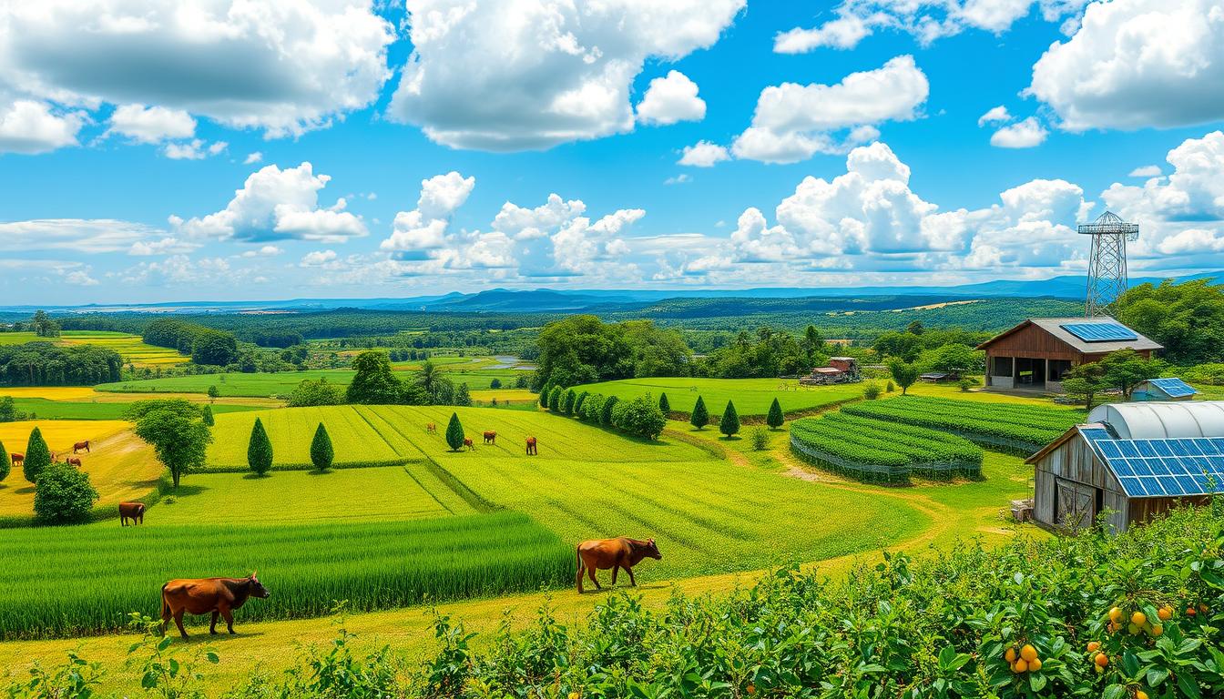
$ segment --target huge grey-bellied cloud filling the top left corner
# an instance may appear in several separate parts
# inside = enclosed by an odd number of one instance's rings
[[[7,2],[0,83],[67,107],[157,105],[296,135],[377,98],[394,36],[361,0]]]

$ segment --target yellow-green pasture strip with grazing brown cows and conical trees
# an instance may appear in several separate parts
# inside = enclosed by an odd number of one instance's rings
[[[458,454],[459,458],[523,460],[528,458],[528,436],[536,438],[540,452],[539,457],[531,457],[532,462],[692,462],[711,458],[707,452],[685,442],[630,439],[546,413],[446,405],[328,405],[218,415],[208,464],[245,466],[256,417],[268,431],[273,463],[279,465],[310,464],[310,442],[319,422],[327,426],[332,437],[337,464],[421,462],[450,453],[444,432],[452,413],[459,415],[465,433],[475,441],[475,450]],[[437,426],[437,433],[426,431],[430,422]],[[483,443],[486,430],[497,432],[496,444]]]

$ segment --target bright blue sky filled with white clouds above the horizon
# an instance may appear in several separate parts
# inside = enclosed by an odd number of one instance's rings
[[[6,304],[1224,267],[1209,0],[15,5]]]

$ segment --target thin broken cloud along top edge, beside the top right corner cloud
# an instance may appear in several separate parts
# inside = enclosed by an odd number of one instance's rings
[[[1077,26],[1088,0],[843,0],[834,18],[813,28],[796,27],[774,38],[780,54],[803,54],[819,48],[853,49],[878,29],[913,34],[923,45],[966,29],[1002,33],[1037,5],[1047,22]]]

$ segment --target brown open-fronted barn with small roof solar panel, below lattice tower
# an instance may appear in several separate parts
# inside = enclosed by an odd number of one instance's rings
[[[1071,367],[1132,349],[1144,357],[1159,344],[1110,317],[1029,318],[978,345],[987,353],[987,387],[1062,391]]]

